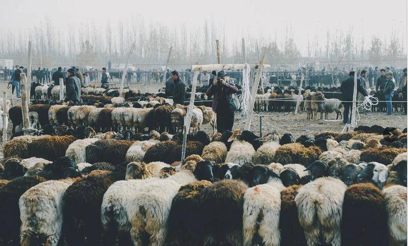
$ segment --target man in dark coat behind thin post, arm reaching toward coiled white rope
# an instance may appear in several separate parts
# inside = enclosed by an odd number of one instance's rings
[[[353,91],[354,91],[354,71],[351,71],[349,75],[350,77],[342,82],[342,85],[340,88],[342,92],[342,101],[344,105],[343,124],[347,124],[347,123],[350,124],[351,114],[349,116],[349,113],[351,112],[351,108],[353,106],[353,103],[351,101],[353,100]],[[358,96],[358,92],[360,92],[364,96],[368,96],[368,93],[364,89],[362,85],[362,81],[360,79],[357,79],[357,96]],[[357,100],[357,97],[354,99]]]

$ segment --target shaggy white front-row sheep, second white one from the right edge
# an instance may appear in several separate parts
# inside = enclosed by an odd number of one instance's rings
[[[341,180],[332,177],[319,178],[299,188],[294,200],[308,246],[340,246],[346,188]]]

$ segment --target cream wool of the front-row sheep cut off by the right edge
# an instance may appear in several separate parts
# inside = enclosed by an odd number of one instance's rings
[[[407,244],[407,187],[392,185],[382,190],[388,216],[390,245]]]

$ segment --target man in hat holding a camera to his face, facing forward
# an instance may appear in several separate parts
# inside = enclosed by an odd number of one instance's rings
[[[223,133],[232,130],[234,123],[234,111],[230,110],[228,98],[231,94],[238,92],[233,84],[227,83],[226,73],[221,70],[217,74],[211,86],[205,94],[213,96],[212,110],[217,113],[217,131]]]

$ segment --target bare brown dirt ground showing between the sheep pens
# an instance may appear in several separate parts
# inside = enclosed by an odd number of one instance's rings
[[[139,86],[136,84],[131,84],[132,89],[139,89],[142,92],[145,92],[144,86]],[[161,88],[160,84],[150,84],[149,92],[158,92]],[[0,81],[0,94],[4,90],[7,90],[7,83]],[[0,96],[2,97],[2,95]],[[11,89],[7,91],[7,98],[11,99]],[[14,94],[14,105],[21,104],[21,100],[17,99]],[[297,138],[300,135],[314,135],[322,131],[332,130],[332,131],[341,131],[344,127],[342,121],[321,121],[321,120],[307,120],[307,115],[304,112],[299,112],[297,115],[291,113],[280,113],[280,112],[255,112],[251,130],[260,135],[260,116],[262,115],[262,135],[265,135],[268,132],[276,130],[279,134],[284,134],[290,132],[293,135],[293,138]],[[319,114],[318,114],[319,117]],[[336,114],[333,113],[330,116],[331,120],[336,119]],[[359,119],[358,115],[356,116],[357,120]],[[235,120],[233,129],[243,129],[246,122],[246,117],[243,117],[239,112],[235,112]],[[393,126],[404,129],[407,127],[407,115],[404,112],[393,112],[392,116],[386,116],[381,112],[367,112],[360,113],[360,119],[358,125],[374,125],[378,124],[383,127]],[[11,136],[11,122],[9,122],[9,127],[7,135]],[[203,129],[212,133],[212,128],[210,125],[204,125]],[[0,147],[0,158],[2,158],[2,146]]]

